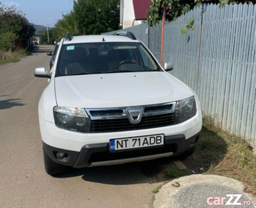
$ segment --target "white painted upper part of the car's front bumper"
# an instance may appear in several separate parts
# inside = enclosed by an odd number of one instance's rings
[[[41,116],[39,117],[39,122],[42,141],[45,144],[64,150],[80,152],[81,148],[87,144],[103,144],[108,143],[110,139],[140,137],[142,135],[163,134],[165,137],[185,135],[185,139],[188,139],[202,129],[202,112],[198,110],[196,116],[177,125],[105,133],[81,133],[63,130],[58,128],[55,123],[45,121]]]

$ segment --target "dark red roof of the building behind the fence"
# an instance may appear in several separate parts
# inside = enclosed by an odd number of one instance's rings
[[[151,6],[151,0],[133,0],[133,8],[135,12],[135,19],[148,19],[146,13]]]

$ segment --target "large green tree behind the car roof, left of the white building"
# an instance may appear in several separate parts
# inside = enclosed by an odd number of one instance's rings
[[[71,35],[96,35],[119,29],[119,0],[77,0],[53,28],[56,40]]]

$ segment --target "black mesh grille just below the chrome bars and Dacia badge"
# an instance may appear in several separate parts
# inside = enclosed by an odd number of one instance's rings
[[[90,132],[119,132],[127,130],[142,130],[147,128],[158,128],[168,125],[175,125],[176,119],[173,113],[160,114],[155,116],[143,116],[138,124],[130,123],[125,119],[102,119],[92,120]]]

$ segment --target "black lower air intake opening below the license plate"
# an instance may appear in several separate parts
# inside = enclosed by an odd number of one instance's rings
[[[134,157],[143,157],[148,155],[157,155],[162,153],[176,153],[178,150],[177,144],[167,144],[164,147],[160,148],[148,148],[148,149],[140,149],[140,150],[130,150],[119,153],[110,153],[110,151],[102,152],[102,153],[93,153],[91,157],[89,157],[89,164],[92,162],[103,162],[103,161],[111,161],[115,159],[127,159]]]

